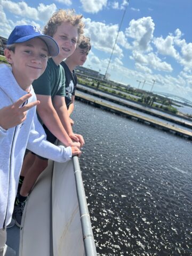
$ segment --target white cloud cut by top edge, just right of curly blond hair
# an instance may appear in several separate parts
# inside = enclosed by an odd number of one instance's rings
[[[107,6],[107,0],[80,0],[83,10],[88,13],[97,13]]]

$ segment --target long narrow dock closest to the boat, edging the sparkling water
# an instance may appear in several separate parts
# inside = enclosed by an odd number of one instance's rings
[[[110,104],[107,104],[107,103],[99,101],[99,100],[94,100],[90,97],[84,96],[84,95],[79,94],[77,92],[75,94],[75,98],[79,101],[83,101],[83,102],[86,102],[90,105],[93,105],[94,107],[98,107],[98,108],[110,111],[112,113],[124,116],[126,118],[133,119],[133,120],[138,121],[140,123],[147,124],[147,125],[156,127],[158,129],[161,129],[163,131],[170,132],[170,133],[173,133],[175,135],[179,135],[183,138],[192,140],[192,132],[190,132],[190,131],[186,131],[184,129],[174,127],[173,125],[166,124],[166,123],[163,123],[163,122],[160,122],[160,121],[156,121],[154,119],[151,119],[151,118],[148,118],[148,117],[145,117],[145,116],[141,116],[137,113],[132,113],[131,111],[128,111],[128,110],[124,110],[124,109],[121,109],[121,108],[118,108],[118,107],[115,107],[115,106],[111,106]]]

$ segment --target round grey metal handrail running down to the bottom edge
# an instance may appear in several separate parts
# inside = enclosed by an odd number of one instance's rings
[[[74,174],[77,189],[77,198],[81,218],[83,242],[86,256],[97,256],[96,246],[94,243],[93,230],[91,227],[90,214],[87,207],[85,190],[83,186],[82,173],[77,156],[73,156]]]

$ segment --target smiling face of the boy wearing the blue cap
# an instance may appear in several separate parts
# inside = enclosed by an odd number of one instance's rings
[[[48,49],[40,38],[15,44],[15,50],[6,49],[5,56],[12,65],[12,73],[21,85],[31,84],[43,74],[47,65]]]

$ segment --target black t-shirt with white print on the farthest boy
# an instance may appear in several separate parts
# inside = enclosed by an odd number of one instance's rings
[[[65,69],[65,77],[66,77],[66,84],[65,84],[65,101],[67,105],[67,109],[69,108],[69,105],[71,103],[71,97],[72,95],[75,95],[76,87],[77,87],[77,77],[75,75],[75,72],[71,73],[70,69],[66,65],[64,61],[60,63],[60,65]]]

